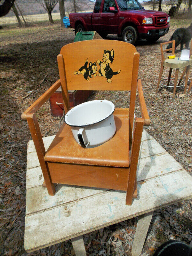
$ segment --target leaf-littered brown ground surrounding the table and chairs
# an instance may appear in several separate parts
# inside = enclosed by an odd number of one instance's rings
[[[136,49],[140,53],[139,78],[151,118],[147,132],[192,175],[192,90],[183,94],[184,88],[180,87],[174,100],[172,89],[160,86],[155,93],[161,63],[160,43],[168,41],[176,28],[186,28],[190,23],[191,20],[171,20],[166,36],[153,44],[141,40]],[[27,122],[21,120],[21,113],[59,79],[57,55],[74,38],[73,29],[60,28],[59,22],[22,29],[12,25],[0,31],[0,255],[74,255],[70,241],[32,253],[24,250],[27,143],[31,135]],[[118,40],[113,35],[107,39]],[[176,55],[180,56],[180,52]],[[45,75],[44,83],[39,85]],[[163,76],[168,76],[168,68]],[[125,108],[128,96],[128,92],[102,91],[93,92],[90,99],[111,100],[116,107]],[[136,116],[140,116],[138,106]],[[51,116],[49,101],[38,111],[38,120],[43,136],[57,132],[60,118]],[[136,225],[137,218],[133,218],[85,235],[87,255],[131,255]],[[154,212],[142,255],[152,255],[169,239],[190,243],[191,200]]]

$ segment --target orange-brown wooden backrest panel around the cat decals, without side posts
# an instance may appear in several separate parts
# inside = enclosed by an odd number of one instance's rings
[[[86,59],[88,63],[102,61],[104,50],[114,51],[114,61],[109,64],[113,72],[121,70],[113,75],[111,83],[104,76],[93,76],[87,81],[82,74],[74,74],[84,66]],[[136,52],[132,44],[115,40],[87,40],[64,45],[60,54],[64,58],[68,90],[131,90],[133,56]],[[123,61],[125,56],[126,61]],[[99,64],[97,68],[99,71]]]

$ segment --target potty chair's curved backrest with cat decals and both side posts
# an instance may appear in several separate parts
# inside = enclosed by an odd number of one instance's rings
[[[58,55],[65,111],[68,90],[131,90],[134,116],[139,53],[135,46],[116,40],[86,40],[67,44]]]

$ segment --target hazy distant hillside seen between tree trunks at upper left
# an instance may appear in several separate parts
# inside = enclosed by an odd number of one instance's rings
[[[83,4],[81,1],[76,0],[79,11],[88,11],[93,10],[95,2],[89,0],[83,0]],[[45,13],[45,9],[41,6],[41,4],[37,3],[35,0],[16,0],[16,3],[19,5],[20,10],[25,15],[30,14],[40,14]],[[67,0],[65,1],[65,11],[73,12],[73,1]],[[55,6],[53,12],[59,12],[59,3]],[[6,17],[15,16],[12,11],[10,11]]]

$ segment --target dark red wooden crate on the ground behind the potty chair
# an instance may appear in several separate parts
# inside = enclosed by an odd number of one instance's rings
[[[75,107],[76,105],[85,102],[91,93],[92,91],[69,90],[69,106]],[[52,116],[63,116],[64,105],[61,87],[59,87],[56,92],[52,94],[49,101]],[[56,102],[62,104],[58,105]]]

